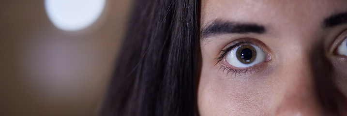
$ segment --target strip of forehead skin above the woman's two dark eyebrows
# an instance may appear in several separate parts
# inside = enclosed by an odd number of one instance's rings
[[[201,27],[216,19],[314,26],[332,14],[345,12],[346,5],[347,0],[202,0]]]

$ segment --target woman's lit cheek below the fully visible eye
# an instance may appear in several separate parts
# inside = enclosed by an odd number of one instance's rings
[[[269,77],[235,77],[218,67],[202,67],[198,86],[198,110],[201,116],[270,115]]]

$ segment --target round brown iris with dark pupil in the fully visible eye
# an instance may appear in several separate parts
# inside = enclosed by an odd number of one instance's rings
[[[256,59],[256,49],[252,45],[242,45],[236,51],[236,58],[243,64],[250,64]]]

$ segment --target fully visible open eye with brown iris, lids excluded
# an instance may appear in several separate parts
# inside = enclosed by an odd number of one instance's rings
[[[266,54],[259,47],[246,44],[233,48],[226,54],[226,62],[238,68],[251,67],[265,61]]]

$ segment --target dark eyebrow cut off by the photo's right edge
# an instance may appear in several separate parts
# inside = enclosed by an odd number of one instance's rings
[[[347,12],[332,15],[324,20],[325,28],[332,28],[337,25],[342,25],[347,23]]]

